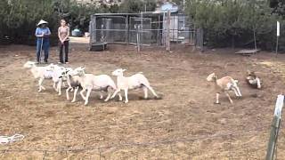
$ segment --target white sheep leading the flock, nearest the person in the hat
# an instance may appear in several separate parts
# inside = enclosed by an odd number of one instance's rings
[[[43,82],[45,79],[52,79],[53,72],[51,70],[48,70],[49,66],[45,67],[37,67],[36,62],[34,61],[27,61],[24,64],[24,68],[30,68],[31,73],[33,76],[38,79],[38,92],[41,92],[42,90],[45,90],[45,87],[43,86]],[[57,91],[55,85],[53,85],[53,88],[55,91]]]

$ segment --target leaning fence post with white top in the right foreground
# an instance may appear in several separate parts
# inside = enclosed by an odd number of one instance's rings
[[[277,139],[278,139],[278,132],[281,124],[281,113],[282,113],[283,103],[284,103],[284,96],[278,95],[275,104],[273,124],[271,125],[270,138],[268,141],[266,160],[273,160],[274,152],[276,149],[275,146],[277,144]]]

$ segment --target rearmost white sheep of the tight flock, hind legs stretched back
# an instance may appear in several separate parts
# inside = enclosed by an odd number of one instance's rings
[[[159,98],[159,96],[154,92],[154,90],[151,88],[151,84],[148,81],[148,79],[142,75],[142,73],[137,73],[133,76],[124,76],[124,71],[126,69],[118,68],[115,71],[112,72],[113,76],[117,76],[117,90],[113,93],[111,96],[111,99],[116,96],[118,92],[121,90],[124,90],[125,92],[125,103],[128,102],[127,99],[127,91],[132,89],[138,89],[142,88],[144,92],[144,99],[148,98],[148,89],[151,90],[152,94]]]

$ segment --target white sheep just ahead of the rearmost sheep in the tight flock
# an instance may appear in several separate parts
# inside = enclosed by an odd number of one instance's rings
[[[80,95],[85,100],[85,105],[88,104],[88,99],[91,91],[107,92],[108,96],[104,101],[110,100],[111,91],[117,90],[116,84],[108,75],[94,76],[92,74],[85,74],[85,68],[76,68],[71,71],[70,76],[79,76],[79,83],[82,86]],[[87,91],[87,92],[86,92]],[[76,94],[77,91],[74,92]],[[86,92],[86,95],[84,95]],[[118,94],[119,100],[122,100],[120,94]],[[102,98],[102,96],[101,96]]]

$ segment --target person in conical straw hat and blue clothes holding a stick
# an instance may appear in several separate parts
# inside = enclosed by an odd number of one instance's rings
[[[40,20],[37,23],[36,36],[37,36],[37,62],[41,62],[42,50],[45,51],[45,63],[47,63],[48,52],[50,47],[49,36],[51,35],[50,29],[46,26],[47,21]]]

